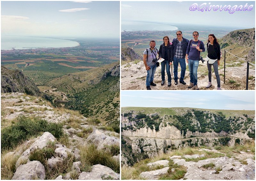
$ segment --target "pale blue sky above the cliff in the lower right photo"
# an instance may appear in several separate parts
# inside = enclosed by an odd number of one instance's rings
[[[255,91],[121,91],[121,107],[255,110]]]

